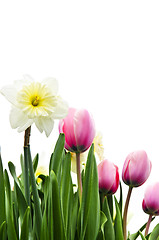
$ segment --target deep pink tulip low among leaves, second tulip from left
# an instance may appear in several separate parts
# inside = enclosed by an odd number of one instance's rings
[[[99,190],[105,195],[114,194],[119,186],[118,167],[108,160],[98,165]]]

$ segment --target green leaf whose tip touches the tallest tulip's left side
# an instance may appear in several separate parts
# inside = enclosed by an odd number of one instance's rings
[[[56,175],[60,167],[61,158],[64,150],[64,144],[65,144],[65,135],[63,133],[60,133],[59,138],[55,145],[54,152],[51,155],[50,166],[49,166],[49,172],[53,170]]]

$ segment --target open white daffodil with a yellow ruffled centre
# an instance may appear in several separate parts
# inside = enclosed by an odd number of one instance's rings
[[[40,132],[48,137],[54,126],[54,119],[65,118],[68,105],[58,95],[58,83],[55,78],[35,82],[25,75],[23,80],[1,89],[12,104],[10,124],[22,132],[35,123]]]

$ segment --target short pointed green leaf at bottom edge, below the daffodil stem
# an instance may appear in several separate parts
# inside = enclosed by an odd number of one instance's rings
[[[23,223],[21,226],[20,240],[29,239],[29,225],[30,225],[30,207],[27,207],[24,214]]]

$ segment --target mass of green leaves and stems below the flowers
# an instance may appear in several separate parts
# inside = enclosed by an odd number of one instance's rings
[[[20,156],[20,176],[14,164],[8,163],[14,184],[10,183],[7,170],[3,170],[0,157],[0,240],[124,239],[121,183],[119,200],[99,193],[92,144],[82,171],[80,202],[71,177],[71,154],[64,150],[64,143],[65,136],[60,134],[50,158],[49,175],[39,175],[40,183],[35,178],[39,155],[32,161],[29,145]],[[159,224],[146,237],[145,227],[146,224],[127,239],[159,240]]]

